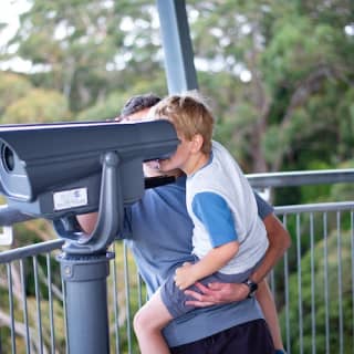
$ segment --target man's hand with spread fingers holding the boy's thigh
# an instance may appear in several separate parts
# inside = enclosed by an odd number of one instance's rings
[[[197,282],[195,285],[201,293],[186,290],[185,294],[195,298],[196,300],[186,301],[186,305],[196,308],[206,308],[216,304],[230,303],[242,301],[248,296],[249,288],[243,283],[210,283],[208,287]]]

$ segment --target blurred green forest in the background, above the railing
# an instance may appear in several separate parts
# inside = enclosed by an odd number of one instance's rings
[[[27,10],[0,44],[0,124],[106,119],[134,94],[168,93],[154,0],[13,2]],[[186,3],[216,138],[246,173],[354,166],[354,1]],[[273,202],[334,196],[353,200],[353,187],[284,189]],[[55,237],[42,220],[15,232],[22,243]]]

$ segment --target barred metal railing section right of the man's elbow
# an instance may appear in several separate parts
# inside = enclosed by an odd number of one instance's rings
[[[289,353],[352,353],[354,202],[279,207],[293,244],[270,277]]]

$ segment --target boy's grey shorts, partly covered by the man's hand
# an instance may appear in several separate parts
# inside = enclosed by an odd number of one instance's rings
[[[207,278],[199,280],[200,283],[207,285],[211,282],[221,282],[221,283],[241,283],[242,281],[247,280],[247,278],[257,268],[259,262],[252,267],[251,269],[238,273],[238,274],[223,274],[220,272],[214,273]],[[199,289],[195,285],[189,287],[188,289],[200,292]],[[166,282],[160,288],[160,296],[162,300],[167,308],[170,315],[176,319],[180,315],[191,311],[195,306],[186,305],[187,300],[195,300],[191,296],[187,296],[185,294],[185,290],[179,290],[176,287],[174,275],[169,277]]]

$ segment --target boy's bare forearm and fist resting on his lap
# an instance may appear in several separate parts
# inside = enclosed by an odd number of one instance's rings
[[[211,249],[197,263],[185,263],[176,270],[176,285],[184,290],[196,281],[219,271],[238,252],[239,242],[231,241]]]

